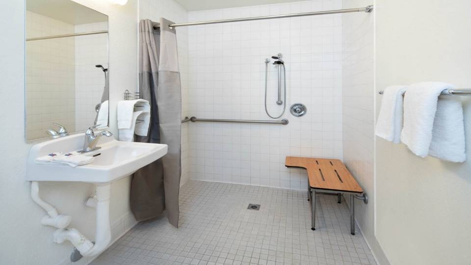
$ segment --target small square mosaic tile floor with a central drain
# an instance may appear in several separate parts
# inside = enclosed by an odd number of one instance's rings
[[[179,229],[166,217],[141,222],[91,264],[375,265],[358,227],[350,235],[345,202],[317,198],[312,231],[307,191],[189,181]]]

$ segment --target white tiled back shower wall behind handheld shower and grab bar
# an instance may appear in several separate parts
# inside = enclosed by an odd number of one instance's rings
[[[341,0],[312,0],[188,13],[206,21],[340,9]],[[264,59],[283,53],[289,125],[192,123],[192,179],[304,189],[304,170],[287,169],[286,156],[342,158],[342,17],[309,16],[188,27],[188,112],[199,118],[268,120],[263,106]],[[273,61],[273,60],[272,60]],[[269,110],[276,73],[270,66]],[[308,114],[288,107],[301,102]]]

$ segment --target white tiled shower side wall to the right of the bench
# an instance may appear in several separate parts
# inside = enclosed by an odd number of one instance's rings
[[[369,0],[344,0],[344,8]],[[374,238],[374,82],[373,14],[343,15],[343,161],[368,194],[356,204],[356,219],[366,241]]]

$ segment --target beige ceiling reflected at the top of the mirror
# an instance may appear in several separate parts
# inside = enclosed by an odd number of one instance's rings
[[[72,25],[108,21],[105,14],[71,0],[26,0],[26,10]]]

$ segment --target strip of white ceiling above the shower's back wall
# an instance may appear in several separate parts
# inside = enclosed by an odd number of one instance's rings
[[[259,4],[297,2],[299,0],[175,0],[187,11],[242,7]]]

